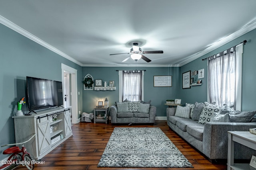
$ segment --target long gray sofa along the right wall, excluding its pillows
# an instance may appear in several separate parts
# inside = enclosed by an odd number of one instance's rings
[[[204,110],[202,110],[202,113],[198,118],[199,120],[193,120],[191,118],[191,114],[188,115],[188,117],[184,115],[177,115],[177,109],[180,109],[180,107],[168,107],[166,109],[168,126],[180,135],[180,137],[190,143],[190,145],[206,155],[210,160],[227,159],[227,131],[249,131],[250,128],[256,127],[256,122],[212,122],[210,119],[207,120],[207,117],[204,119],[204,116],[202,116],[206,113]],[[215,108],[212,109],[214,111]],[[220,108],[217,110],[220,111]],[[226,113],[226,115],[227,114],[229,113]],[[250,113],[250,115],[253,115],[253,113]],[[224,116],[224,114],[221,116]],[[234,117],[232,117],[234,115],[227,116],[234,119]],[[206,123],[198,123],[202,117]],[[241,120],[240,117],[238,118]],[[246,119],[245,121],[252,121],[252,119],[253,118],[251,117],[250,120]],[[230,121],[230,118],[228,121]],[[248,147],[238,143],[235,143],[234,148],[235,159],[251,159],[252,155],[256,155],[255,150],[249,149]]]

